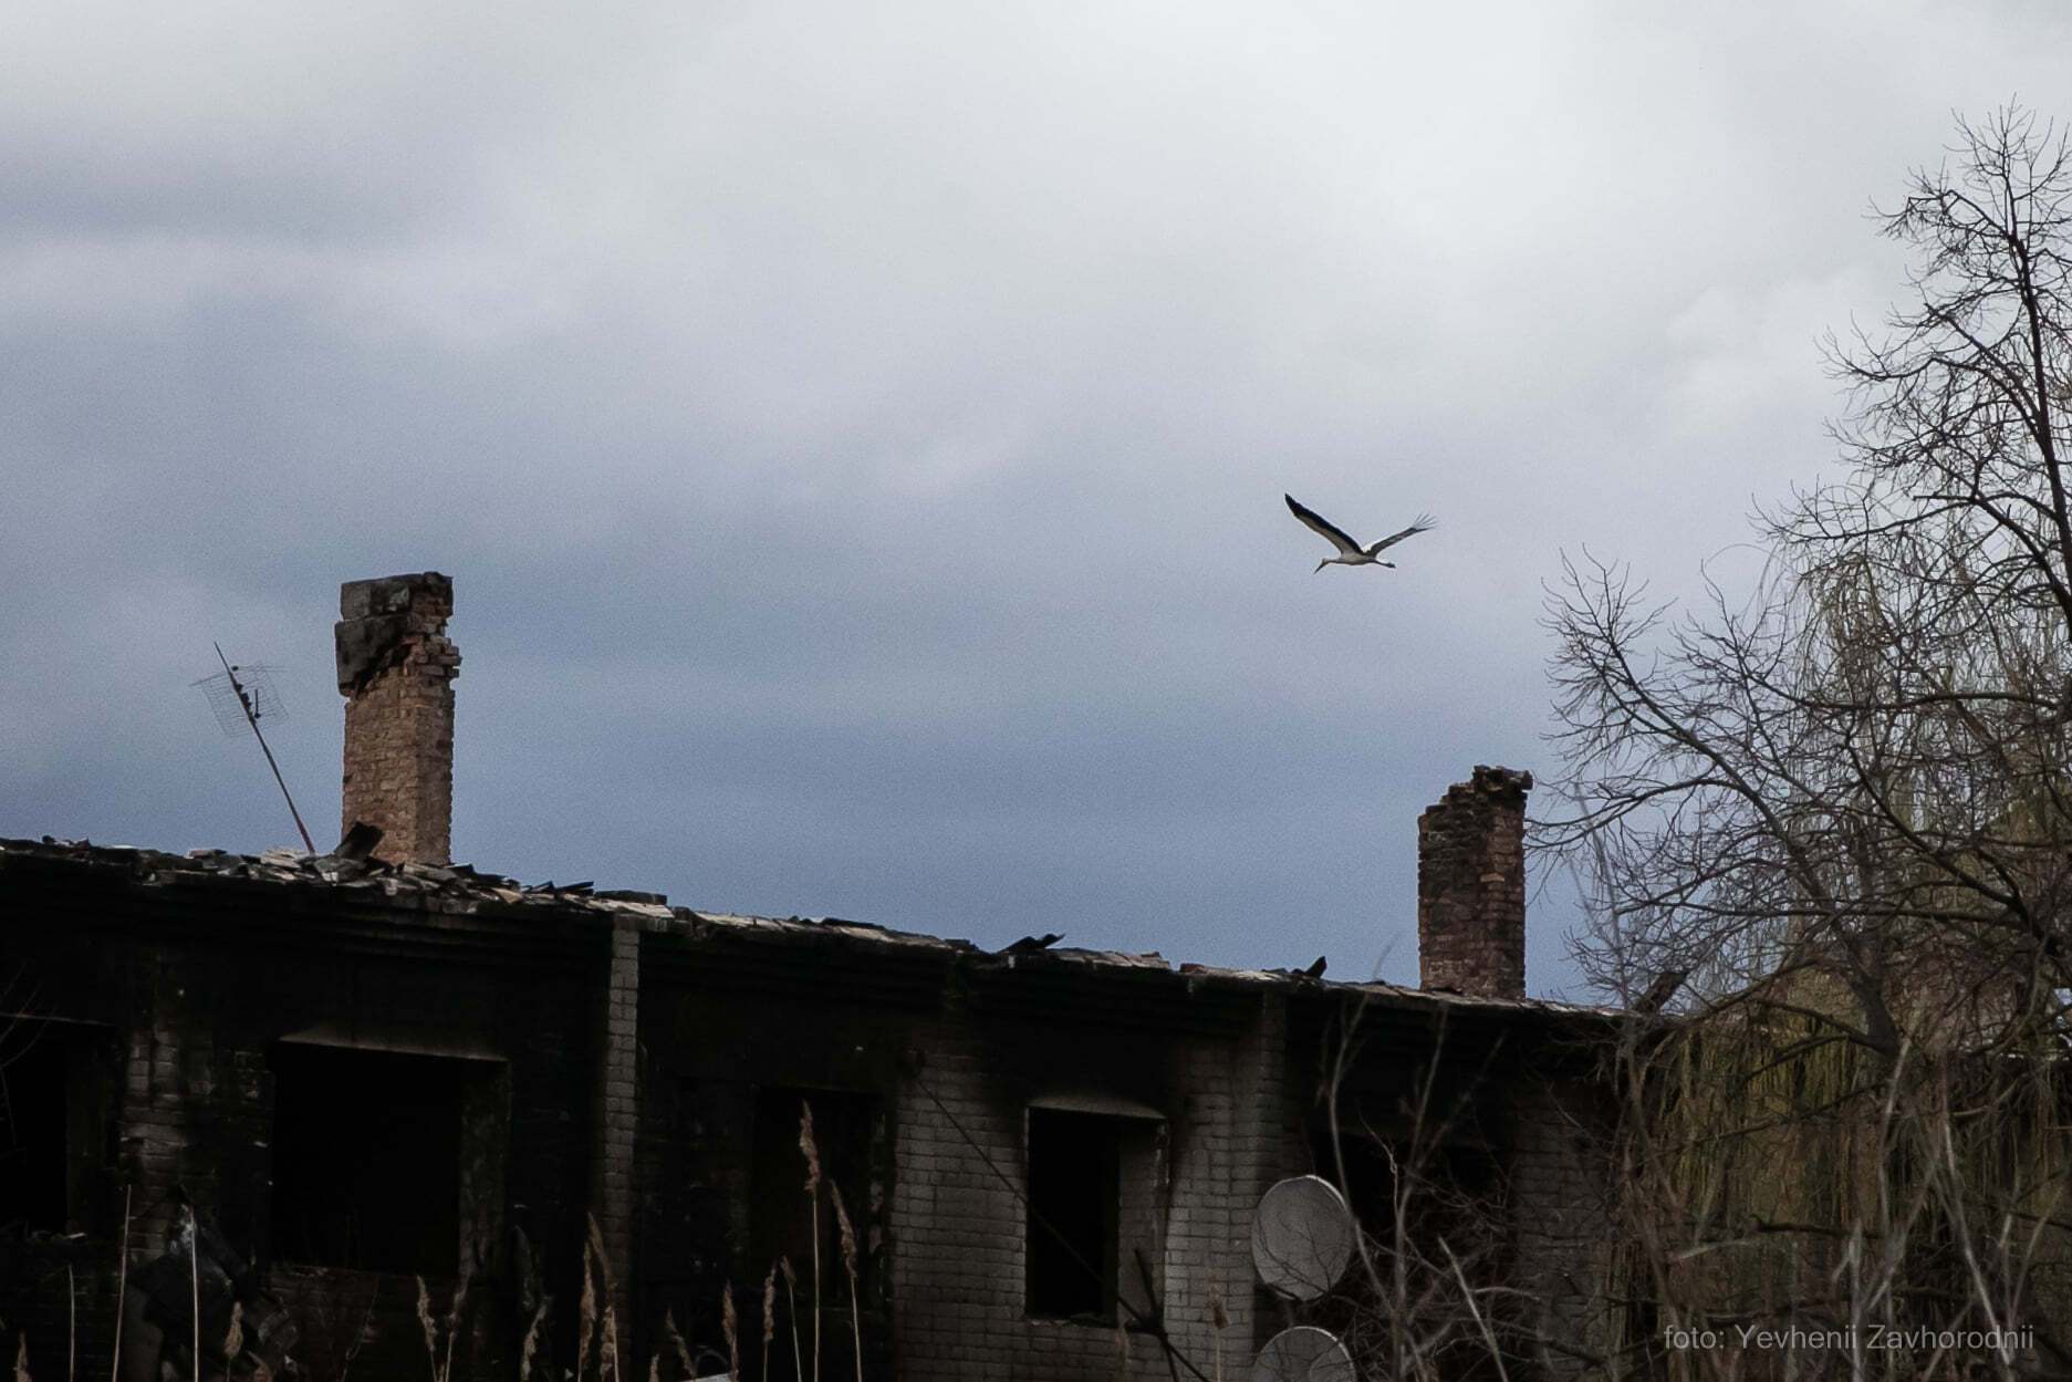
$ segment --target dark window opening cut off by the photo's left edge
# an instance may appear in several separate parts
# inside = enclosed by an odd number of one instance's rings
[[[0,1227],[62,1233],[79,1208],[83,1057],[58,1024],[0,1017]]]

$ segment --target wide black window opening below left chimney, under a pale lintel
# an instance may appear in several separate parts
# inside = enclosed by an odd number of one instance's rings
[[[274,1050],[276,1260],[458,1270],[462,1065],[338,1046]]]

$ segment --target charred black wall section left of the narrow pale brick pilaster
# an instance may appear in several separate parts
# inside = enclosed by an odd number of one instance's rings
[[[8,1297],[0,1316],[39,1322],[33,1372],[64,1376],[66,1367],[58,1258],[73,1258],[83,1303],[99,1312],[79,1336],[91,1347],[112,1338],[114,1295],[104,1278],[118,1262],[124,1198],[133,1270],[166,1251],[193,1206],[286,1299],[300,1322],[298,1351],[315,1361],[356,1347],[363,1376],[425,1365],[416,1274],[443,1303],[466,1264],[479,1301],[516,1307],[522,1245],[564,1280],[570,1268],[562,1264],[580,1262],[595,932],[528,918],[526,932],[512,934],[493,918],[311,905],[317,899],[294,889],[220,879],[137,887],[120,868],[37,872],[33,862],[8,860],[0,889],[0,968],[15,980],[12,1009],[91,1034],[110,1061],[112,1098],[70,1214],[81,1237],[10,1235],[50,1260],[0,1278]],[[354,1077],[336,1077],[356,1063]],[[398,1063],[435,1067],[441,1077],[385,1090]],[[284,1098],[282,1079],[325,1071],[334,1075],[325,1088],[298,1086]],[[445,1106],[427,1109],[427,1098]],[[412,1125],[381,1127],[402,1119],[410,1100],[410,1117],[450,1113],[452,1121],[450,1138],[423,1148],[452,1160],[437,1171],[452,1185],[443,1262],[441,1254],[425,1260],[423,1245],[398,1258],[354,1237],[352,1214],[363,1212],[358,1225],[367,1225],[365,1210],[381,1208],[383,1189],[416,1171]],[[280,1158],[296,1154],[292,1135],[282,1146],[280,1133],[294,1131],[278,1121],[284,1104],[303,1146],[317,1146],[327,1129],[396,1152],[390,1185],[342,1183],[336,1158],[284,1167]],[[334,1231],[280,1222],[305,1210],[329,1214]],[[462,1343],[462,1355],[479,1347],[487,1365],[501,1349],[495,1341],[522,1332],[499,1332],[491,1316],[479,1341]]]

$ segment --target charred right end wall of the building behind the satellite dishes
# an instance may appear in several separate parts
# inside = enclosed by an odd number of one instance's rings
[[[1291,1001],[1287,1164],[1343,1185],[1376,1241],[1401,1227],[1442,1260],[1444,1239],[1506,1287],[1513,1378],[1585,1372],[1602,1324],[1606,1036],[1602,1017],[1525,1007],[1382,1007],[1328,988]],[[1314,1322],[1372,1336],[1382,1316],[1355,1270]],[[1442,1372],[1496,1376],[1479,1343]]]

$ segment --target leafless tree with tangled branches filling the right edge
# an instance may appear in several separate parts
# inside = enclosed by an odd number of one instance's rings
[[[1830,338],[1846,472],[1757,516],[1757,588],[1676,613],[1583,559],[1552,593],[1535,843],[1587,883],[1593,980],[1689,976],[1624,1050],[1641,1332],[2020,1326],[1790,1363],[2020,1376],[2072,1318],[2072,149],[1960,122],[1881,228],[1908,305]]]

